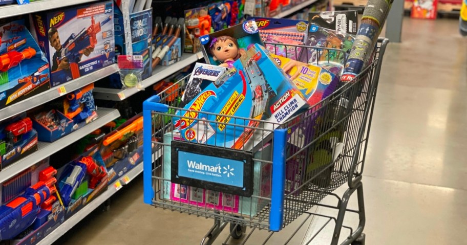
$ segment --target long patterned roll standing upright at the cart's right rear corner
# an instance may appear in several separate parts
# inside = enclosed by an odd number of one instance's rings
[[[350,82],[365,68],[391,9],[391,4],[392,0],[368,0],[355,42],[344,66],[341,82]]]

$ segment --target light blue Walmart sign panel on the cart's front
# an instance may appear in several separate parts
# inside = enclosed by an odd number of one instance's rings
[[[244,162],[191,152],[178,152],[178,175],[190,179],[243,187]]]

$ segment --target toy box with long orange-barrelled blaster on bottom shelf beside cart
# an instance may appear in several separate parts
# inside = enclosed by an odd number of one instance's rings
[[[143,117],[137,115],[104,136],[100,154],[109,172],[109,183],[142,162],[142,129]]]

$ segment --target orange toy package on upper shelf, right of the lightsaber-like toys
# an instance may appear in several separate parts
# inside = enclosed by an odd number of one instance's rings
[[[211,16],[208,13],[208,7],[185,10],[185,53],[201,51],[199,37],[211,31]]]

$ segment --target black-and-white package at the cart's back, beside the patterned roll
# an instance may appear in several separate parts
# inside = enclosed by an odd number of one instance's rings
[[[311,12],[308,14],[308,23],[322,28],[335,30],[341,34],[357,34],[358,11],[328,11]]]

